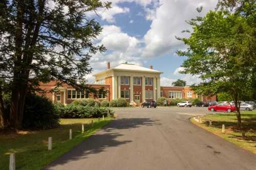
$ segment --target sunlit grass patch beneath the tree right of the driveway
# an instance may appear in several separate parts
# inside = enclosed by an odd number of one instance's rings
[[[242,111],[241,117],[245,140],[242,138],[242,131],[237,129],[236,113],[206,115],[201,117],[202,123],[196,122],[194,118],[190,120],[199,127],[256,154],[256,111]],[[212,121],[211,127],[209,120]],[[224,133],[222,133],[222,124],[225,125]]]

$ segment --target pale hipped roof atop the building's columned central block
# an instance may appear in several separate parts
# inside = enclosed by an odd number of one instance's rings
[[[129,63],[121,63],[113,68],[110,68],[108,70],[126,70],[126,71],[141,71],[141,72],[153,72],[153,73],[159,73],[159,74],[162,74],[163,72],[161,71],[158,71],[158,70],[155,70],[155,69],[151,69],[151,68],[146,68],[146,67],[142,67],[142,66],[139,66],[139,65],[135,65],[135,64],[129,64]],[[98,74],[101,74],[103,72],[105,72],[106,70],[104,71],[100,71],[98,72],[97,74],[95,75],[98,75]],[[95,76],[94,75],[94,76]]]

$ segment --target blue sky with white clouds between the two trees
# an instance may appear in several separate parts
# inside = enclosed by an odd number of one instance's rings
[[[89,13],[103,27],[95,43],[103,44],[105,53],[92,55],[93,68],[87,76],[89,83],[94,82],[94,73],[128,62],[164,72],[161,85],[170,86],[177,79],[187,85],[200,83],[197,76],[180,74],[186,57],[176,55],[177,50],[186,46],[175,38],[188,37],[182,30],[191,30],[185,22],[198,16],[196,8],[203,6],[201,16],[214,10],[218,0],[108,0],[112,2],[109,10],[98,9],[97,15]],[[102,1],[103,2],[103,1]]]

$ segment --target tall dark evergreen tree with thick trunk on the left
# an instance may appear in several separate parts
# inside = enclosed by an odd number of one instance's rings
[[[92,70],[89,54],[105,47],[94,45],[102,28],[86,14],[110,5],[99,0],[0,2],[1,128],[22,128],[25,97],[30,90],[40,90],[39,82],[58,80],[57,86],[67,83],[93,91],[84,79]],[[9,113],[4,93],[11,95]]]

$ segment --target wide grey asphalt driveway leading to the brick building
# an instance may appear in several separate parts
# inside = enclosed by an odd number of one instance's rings
[[[189,122],[205,112],[117,109],[117,119],[45,169],[256,169],[256,154]]]

